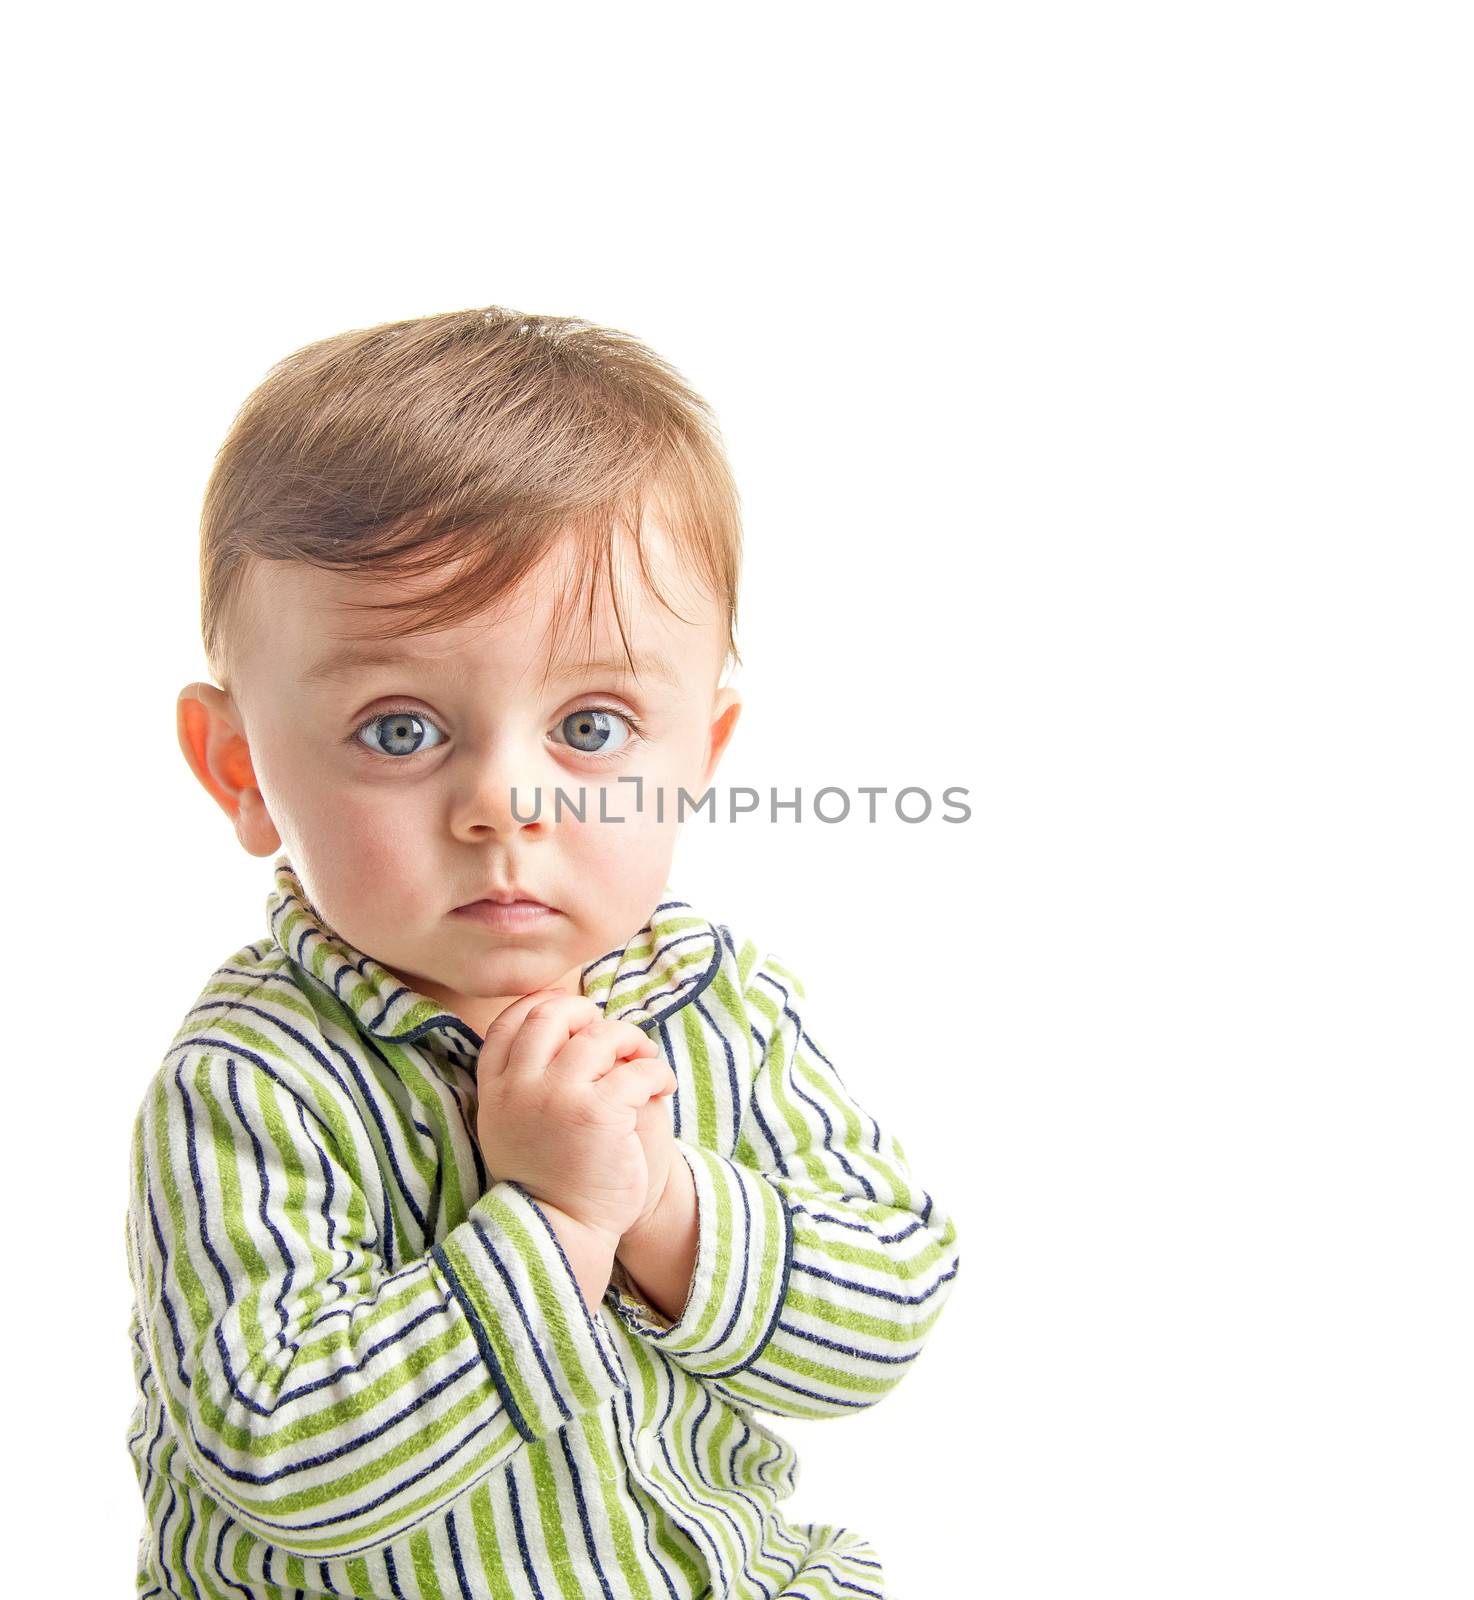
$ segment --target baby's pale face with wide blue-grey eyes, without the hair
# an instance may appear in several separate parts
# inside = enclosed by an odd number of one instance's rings
[[[286,562],[250,573],[254,629],[234,699],[219,696],[262,802],[248,826],[237,818],[242,842],[256,854],[280,843],[341,938],[479,1032],[531,989],[576,990],[581,966],[643,925],[671,869],[677,789],[699,797],[736,723],[736,691],[717,688],[717,602],[682,579],[648,518],[645,547],[690,621],[647,592],[632,550],[619,547],[640,675],[600,594],[592,637],[579,613],[546,683],[544,634],[567,546],[495,616],[399,640],[387,618],[341,602],[400,597],[418,582],[391,590]],[[325,670],[358,643],[402,659]],[[635,776],[640,811],[635,786],[618,782]],[[584,821],[567,806],[555,818],[559,787],[575,806],[583,798]],[[600,821],[600,790],[603,814],[623,822]],[[506,890],[551,910],[514,923],[461,909]]]

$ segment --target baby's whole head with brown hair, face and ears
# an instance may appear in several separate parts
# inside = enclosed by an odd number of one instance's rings
[[[741,709],[739,557],[711,413],[629,336],[493,307],[325,339],[216,459],[181,747],[245,850],[483,1030],[658,904]],[[551,910],[461,909],[506,893]]]

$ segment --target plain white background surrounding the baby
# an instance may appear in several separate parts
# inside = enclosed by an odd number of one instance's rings
[[[288,350],[506,304],[717,408],[722,778],[971,790],[677,858],[960,1229],[904,1382],[776,1422],[792,1514],[899,1600],[1469,1595],[1461,24],[11,24],[6,1592],[131,1592],[131,1117],[266,926],[174,742],[211,453]]]

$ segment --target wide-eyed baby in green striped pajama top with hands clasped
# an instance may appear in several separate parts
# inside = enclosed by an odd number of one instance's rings
[[[571,318],[346,333],[235,418],[178,726],[274,885],[134,1126],[141,1597],[885,1594],[755,1413],[893,1389],[957,1232],[667,883],[739,547],[709,408]]]

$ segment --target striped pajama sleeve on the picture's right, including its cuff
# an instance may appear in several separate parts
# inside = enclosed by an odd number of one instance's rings
[[[915,1360],[959,1269],[957,1230],[856,1106],[773,955],[743,989],[755,1072],[733,1157],[677,1139],[696,1181],[691,1291],[672,1323],[616,1275],[626,1325],[739,1405],[839,1416]]]

